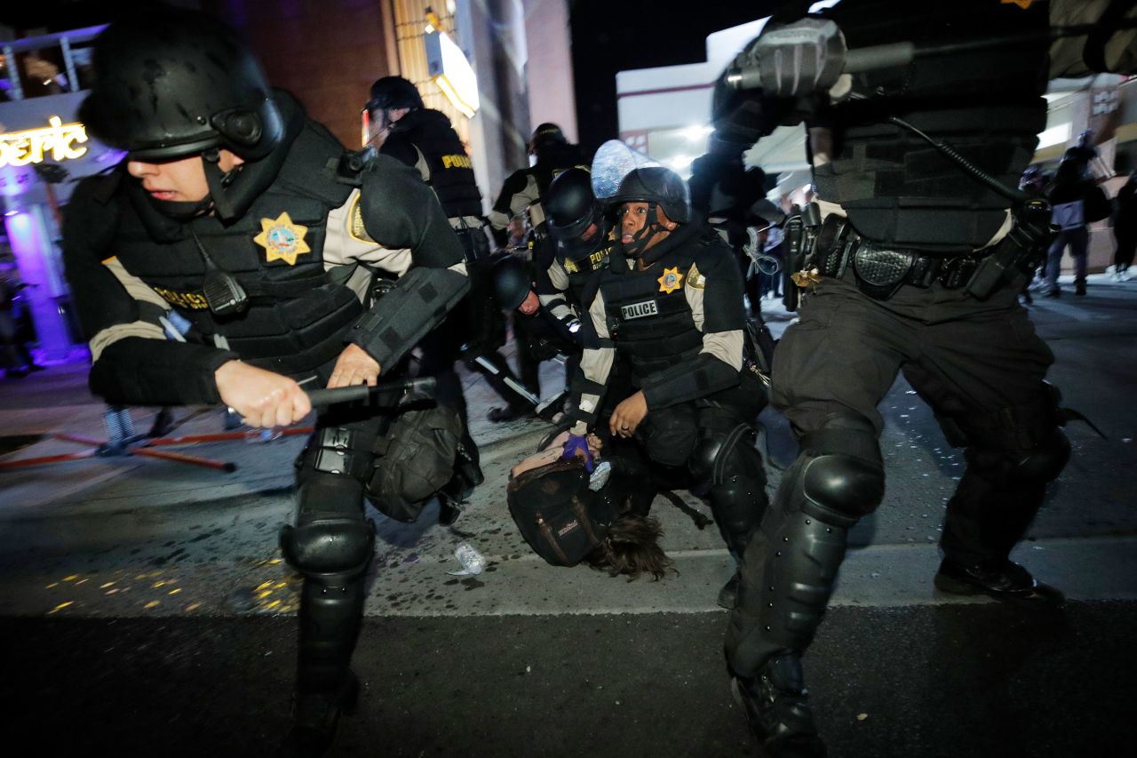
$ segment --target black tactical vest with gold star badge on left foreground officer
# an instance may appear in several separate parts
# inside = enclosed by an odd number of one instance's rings
[[[327,214],[351,191],[333,173],[343,148],[309,123],[284,149],[280,172],[229,226],[213,216],[174,222],[150,206],[138,182],[122,182],[122,222],[111,249],[126,271],[207,339],[221,333],[242,361],[296,376],[343,349],[341,335],[363,306],[355,293],[324,273]],[[209,311],[199,242],[248,293],[244,313],[221,318]]]

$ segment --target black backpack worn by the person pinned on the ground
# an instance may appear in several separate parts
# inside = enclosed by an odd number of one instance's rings
[[[553,566],[579,563],[620,518],[607,488],[592,492],[588,479],[582,461],[554,461],[518,475],[506,488],[521,536]]]

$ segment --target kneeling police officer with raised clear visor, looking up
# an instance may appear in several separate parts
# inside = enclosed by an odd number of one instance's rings
[[[564,455],[584,455],[617,355],[633,392],[612,411],[612,435],[656,465],[686,467],[707,488],[728,549],[740,559],[766,506],[752,423],[765,403],[744,369],[742,283],[730,249],[690,207],[670,168],[611,141],[592,165],[597,197],[617,212],[620,252],[596,274],[584,353],[572,387]],[[598,173],[599,172],[599,173]]]

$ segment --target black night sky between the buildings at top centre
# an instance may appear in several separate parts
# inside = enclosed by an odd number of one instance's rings
[[[568,0],[580,143],[592,151],[617,135],[616,72],[702,63],[707,34],[767,16],[775,5]]]

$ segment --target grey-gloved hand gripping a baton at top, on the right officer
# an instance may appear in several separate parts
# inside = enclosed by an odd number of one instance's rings
[[[802,18],[767,26],[744,52],[757,65],[762,90],[780,98],[825,92],[845,66],[845,36],[831,20]]]

